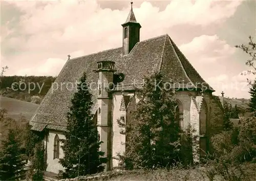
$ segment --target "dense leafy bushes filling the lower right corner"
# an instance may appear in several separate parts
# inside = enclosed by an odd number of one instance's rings
[[[212,137],[214,159],[208,163],[212,175],[219,174],[225,180],[241,180],[242,177],[248,177],[255,172],[256,167],[253,165],[256,163],[255,122],[255,117],[248,118],[243,120],[241,125],[233,126],[232,129]]]

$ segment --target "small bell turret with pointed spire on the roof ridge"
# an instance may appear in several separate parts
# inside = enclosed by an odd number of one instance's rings
[[[128,55],[135,44],[140,41],[140,24],[136,21],[134,12],[133,12],[133,2],[131,2],[131,11],[122,24],[123,27],[123,50],[122,55]]]

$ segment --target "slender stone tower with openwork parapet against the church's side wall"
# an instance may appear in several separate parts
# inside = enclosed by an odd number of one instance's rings
[[[108,163],[105,165],[105,171],[111,169],[111,157],[112,157],[112,146],[111,146],[111,95],[109,90],[113,87],[114,77],[114,65],[113,61],[99,61],[98,69],[95,72],[98,73],[98,93],[97,93],[97,129],[99,132],[99,141],[103,143],[100,145],[100,151],[104,152],[104,157],[108,157]]]

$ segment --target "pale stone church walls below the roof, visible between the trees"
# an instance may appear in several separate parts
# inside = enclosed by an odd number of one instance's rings
[[[124,95],[133,96],[134,94],[124,93]],[[196,93],[193,92],[177,92],[176,98],[179,101],[180,111],[183,114],[183,130],[189,125],[194,124],[197,128],[197,133],[199,133],[200,129],[200,116],[198,114],[197,106],[195,102],[191,99],[191,96],[195,96]],[[122,100],[122,93],[114,93],[112,98],[112,135],[111,135],[111,142],[112,142],[112,161],[111,167],[118,166],[117,154],[123,154],[125,151],[125,135],[121,134],[120,131],[123,128],[120,128],[117,120],[121,117],[125,118],[125,122],[131,119],[130,109],[133,109],[136,102],[138,101],[137,98],[134,98],[133,102],[131,103],[130,107],[128,107],[127,111],[120,110]],[[207,119],[207,134],[208,138],[212,136],[212,134],[218,133],[222,128],[223,123],[223,109],[220,107],[220,100],[215,96],[205,93],[204,101],[206,106],[202,106],[203,109],[207,109],[208,112],[208,119]],[[206,111],[206,110],[204,110]],[[204,112],[203,111],[203,112]],[[97,112],[96,112],[97,114]],[[97,119],[97,116],[95,117]],[[62,166],[58,163],[59,159],[53,159],[53,150],[54,150],[54,138],[55,135],[58,134],[59,139],[65,139],[63,133],[58,131],[50,130],[47,137],[45,137],[45,144],[47,144],[47,171],[58,173],[59,170],[63,170]],[[62,143],[60,143],[61,145]],[[202,147],[206,147],[206,145],[201,145]],[[63,157],[63,151],[60,148],[59,150],[59,158]]]

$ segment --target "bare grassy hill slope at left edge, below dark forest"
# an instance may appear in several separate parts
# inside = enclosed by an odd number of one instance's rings
[[[15,120],[20,119],[20,114],[29,121],[39,105],[31,102],[0,96],[0,108],[7,110],[8,117]]]

